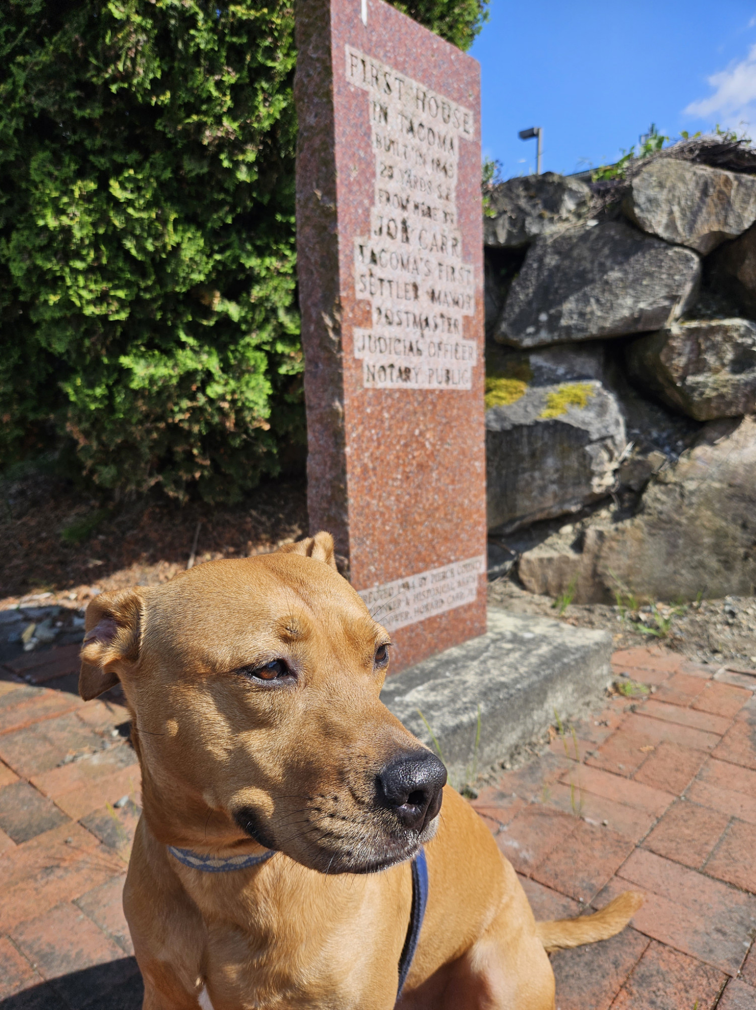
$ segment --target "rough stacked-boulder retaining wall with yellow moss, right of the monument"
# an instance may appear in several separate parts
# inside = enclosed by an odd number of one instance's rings
[[[529,589],[755,591],[756,166],[708,149],[491,191],[489,527]]]

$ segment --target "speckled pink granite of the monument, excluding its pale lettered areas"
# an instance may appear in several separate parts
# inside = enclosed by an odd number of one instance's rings
[[[301,0],[295,86],[310,525],[334,534],[357,590],[485,554],[479,68],[383,0],[366,6],[365,25],[360,0]],[[347,79],[347,46],[472,112],[456,180],[474,277],[474,313],[458,320],[477,348],[469,389],[364,388],[353,330],[372,310],[356,297],[355,238],[370,233],[376,160],[372,96]],[[393,631],[393,672],[481,634],[484,580],[474,602]]]

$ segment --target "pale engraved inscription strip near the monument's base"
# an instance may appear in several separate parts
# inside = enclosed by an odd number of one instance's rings
[[[385,586],[362,589],[359,595],[375,620],[387,631],[396,631],[434,614],[473,603],[477,598],[478,576],[483,572],[485,559],[469,558]]]

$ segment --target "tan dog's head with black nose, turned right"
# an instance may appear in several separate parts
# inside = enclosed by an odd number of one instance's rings
[[[445,769],[379,700],[390,637],[328,533],[103,593],[86,626],[80,692],[121,681],[158,840],[369,873],[433,836]]]

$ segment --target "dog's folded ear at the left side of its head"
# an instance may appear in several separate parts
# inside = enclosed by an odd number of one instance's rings
[[[118,683],[118,670],[136,663],[143,597],[133,589],[102,593],[87,607],[79,694],[97,698]]]

